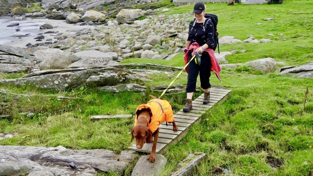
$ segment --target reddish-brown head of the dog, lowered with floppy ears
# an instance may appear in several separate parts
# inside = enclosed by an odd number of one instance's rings
[[[137,124],[131,129],[131,142],[136,138],[136,148],[141,149],[143,144],[150,142],[152,131],[143,124]]]

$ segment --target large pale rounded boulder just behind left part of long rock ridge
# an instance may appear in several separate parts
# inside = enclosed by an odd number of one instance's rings
[[[34,55],[41,61],[40,70],[64,69],[72,63],[69,54],[60,49],[37,50]]]

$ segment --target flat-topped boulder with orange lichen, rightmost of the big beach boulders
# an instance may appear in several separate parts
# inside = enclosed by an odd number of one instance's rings
[[[145,15],[145,11],[141,9],[122,9],[117,15],[116,15],[116,21],[119,23],[127,23],[131,24],[136,19],[142,17]]]

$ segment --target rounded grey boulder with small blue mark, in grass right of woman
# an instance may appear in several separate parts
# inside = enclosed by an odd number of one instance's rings
[[[245,65],[264,73],[273,72],[277,69],[277,63],[273,58],[264,58],[247,62]]]

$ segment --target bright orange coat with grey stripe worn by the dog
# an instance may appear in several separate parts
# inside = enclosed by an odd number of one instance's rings
[[[134,126],[137,124],[137,111],[140,111],[141,109],[150,109],[152,113],[151,122],[148,125],[152,133],[157,130],[162,122],[174,121],[174,114],[170,103],[166,100],[153,99],[150,100],[147,104],[141,104],[137,107]]]

